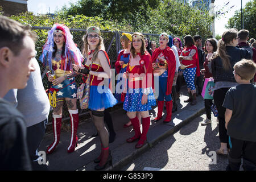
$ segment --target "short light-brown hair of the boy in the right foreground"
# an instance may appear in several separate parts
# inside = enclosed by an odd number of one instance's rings
[[[234,65],[234,71],[242,80],[251,80],[256,72],[256,64],[252,60],[242,59]]]

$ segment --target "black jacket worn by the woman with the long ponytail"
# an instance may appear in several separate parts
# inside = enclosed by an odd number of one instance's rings
[[[217,81],[230,81],[236,82],[233,71],[234,64],[242,59],[251,59],[250,52],[246,49],[241,49],[233,46],[226,46],[227,55],[229,55],[229,60],[232,69],[229,71],[225,71],[222,65],[222,59],[218,56],[212,60],[212,75],[214,78],[214,82]]]

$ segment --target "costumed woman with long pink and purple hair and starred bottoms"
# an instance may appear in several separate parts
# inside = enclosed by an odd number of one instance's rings
[[[67,26],[58,23],[53,25],[51,30],[48,31],[47,42],[43,46],[43,53],[39,59],[46,66],[48,81],[52,83],[49,89],[52,95],[49,99],[53,98],[51,105],[53,107],[52,129],[54,141],[46,152],[51,154],[60,141],[62,109],[65,100],[71,117],[71,142],[68,147],[68,152],[71,153],[75,151],[77,146],[76,133],[79,124],[79,113],[76,106],[77,86],[74,78],[77,73],[73,72],[72,63],[78,66],[81,65],[82,55],[73,42]]]

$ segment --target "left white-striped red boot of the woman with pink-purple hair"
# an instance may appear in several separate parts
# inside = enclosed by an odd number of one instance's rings
[[[46,151],[47,154],[51,154],[55,150],[55,147],[57,146],[57,144],[60,142],[61,119],[62,119],[62,114],[61,115],[53,114],[52,129],[53,129],[54,141],[47,148],[47,151]]]

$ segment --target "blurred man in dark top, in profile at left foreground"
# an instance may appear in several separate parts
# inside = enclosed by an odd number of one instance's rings
[[[29,27],[0,15],[0,171],[31,170],[23,115],[3,96],[27,86],[35,40]]]

